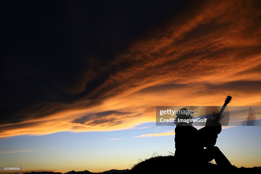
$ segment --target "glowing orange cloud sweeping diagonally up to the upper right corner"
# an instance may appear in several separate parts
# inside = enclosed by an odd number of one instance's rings
[[[94,91],[70,104],[25,108],[17,115],[24,119],[0,125],[0,137],[130,129],[155,122],[155,106],[218,106],[226,95],[234,106],[260,105],[258,3],[211,1],[174,16],[118,53],[108,64],[117,71]]]

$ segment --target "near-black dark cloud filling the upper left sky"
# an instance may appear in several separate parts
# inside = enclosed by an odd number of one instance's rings
[[[20,113],[27,108],[42,111],[88,96],[132,63],[108,66],[118,52],[185,3],[2,1],[1,124],[27,119]]]

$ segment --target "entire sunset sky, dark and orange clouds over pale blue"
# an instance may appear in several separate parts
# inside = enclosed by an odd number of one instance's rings
[[[127,169],[175,152],[156,106],[222,106],[227,95],[261,106],[260,1],[1,7],[0,166]],[[237,167],[261,166],[260,133],[224,127],[216,145]]]

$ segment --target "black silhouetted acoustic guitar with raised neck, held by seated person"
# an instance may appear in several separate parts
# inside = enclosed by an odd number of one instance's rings
[[[222,126],[218,121],[225,107],[228,103],[230,103],[231,100],[232,97],[228,95],[217,117],[215,119],[207,119],[205,127],[198,130],[199,142],[201,143],[201,147],[207,148],[215,146],[218,137],[217,135],[220,134],[222,130]]]

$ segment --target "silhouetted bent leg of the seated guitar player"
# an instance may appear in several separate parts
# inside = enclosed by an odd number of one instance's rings
[[[216,146],[208,147],[204,149],[204,157],[206,160],[209,161],[215,159],[217,165],[220,165],[222,167],[226,167],[230,169],[233,168],[232,164],[229,162],[227,157]]]

